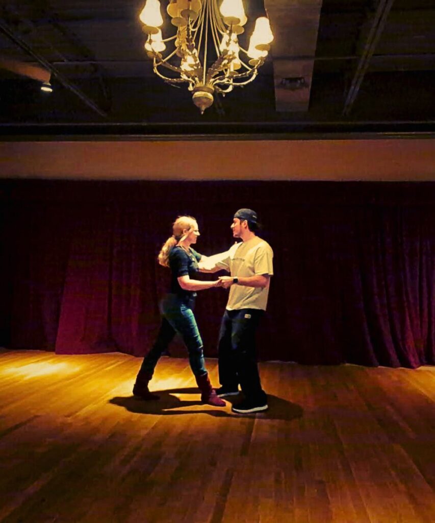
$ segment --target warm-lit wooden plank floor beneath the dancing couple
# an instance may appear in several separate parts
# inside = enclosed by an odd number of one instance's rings
[[[243,416],[183,359],[134,399],[139,363],[0,350],[0,521],[435,521],[435,368],[263,363],[269,411]]]

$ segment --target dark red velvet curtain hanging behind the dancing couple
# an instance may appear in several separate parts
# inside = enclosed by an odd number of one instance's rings
[[[0,198],[3,346],[145,355],[173,219],[198,219],[208,255],[252,207],[275,253],[261,359],[435,363],[435,183],[3,180]],[[206,356],[225,303],[222,289],[198,294]]]

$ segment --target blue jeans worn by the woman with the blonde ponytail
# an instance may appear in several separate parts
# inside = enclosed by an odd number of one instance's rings
[[[151,377],[162,353],[168,348],[173,337],[179,333],[189,351],[189,362],[195,376],[207,372],[203,354],[203,340],[196,325],[193,309],[195,297],[180,298],[177,294],[167,294],[160,303],[162,321],[157,339],[145,356],[140,372]]]

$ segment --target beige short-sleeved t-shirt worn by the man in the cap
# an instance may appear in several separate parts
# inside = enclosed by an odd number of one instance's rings
[[[231,276],[240,278],[255,275],[273,275],[272,247],[255,236],[247,242],[240,242],[230,247],[225,258],[220,258],[218,267],[230,271]],[[258,287],[245,287],[231,285],[227,309],[261,309],[266,310],[269,283],[264,289]]]

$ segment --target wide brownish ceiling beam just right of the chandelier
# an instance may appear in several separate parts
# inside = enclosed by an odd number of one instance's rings
[[[265,0],[272,43],[275,107],[308,111],[322,0]],[[293,57],[307,56],[306,60]]]

